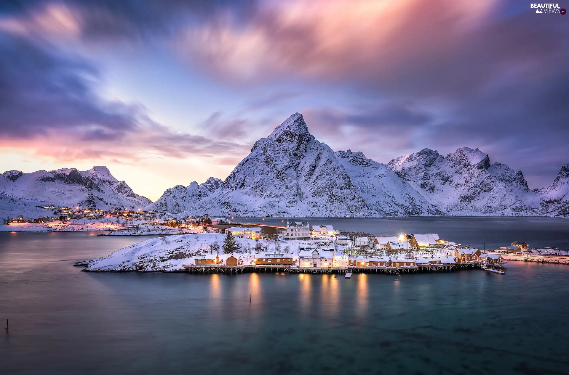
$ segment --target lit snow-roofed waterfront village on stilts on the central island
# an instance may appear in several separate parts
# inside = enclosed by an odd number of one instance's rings
[[[262,224],[233,226],[236,224],[214,221],[207,227],[225,232],[228,238],[266,238],[267,230]],[[192,257],[183,267],[192,273],[345,273],[349,277],[353,272],[399,274],[475,268],[504,273],[501,269],[507,263],[500,254],[446,241],[436,233],[373,236],[336,230],[331,225],[310,226],[308,222],[288,220],[286,226],[278,228],[282,232],[274,235],[274,239],[283,245],[277,245],[273,252],[262,248],[254,253],[224,248],[220,254],[221,249],[217,248]],[[298,251],[291,251],[291,243],[299,244]],[[514,251],[516,243],[508,248]],[[518,248],[524,245],[527,246],[522,243]]]

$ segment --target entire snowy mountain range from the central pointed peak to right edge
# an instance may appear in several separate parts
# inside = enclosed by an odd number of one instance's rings
[[[333,152],[295,113],[215,189],[189,194],[201,185],[176,186],[148,208],[243,216],[567,216],[568,170],[549,188],[531,191],[521,171],[490,164],[486,153],[468,147],[447,156],[426,148],[385,165],[361,152]]]

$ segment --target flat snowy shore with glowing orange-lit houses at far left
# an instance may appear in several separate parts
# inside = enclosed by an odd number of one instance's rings
[[[112,231],[122,228],[114,221],[73,219],[67,222],[11,223],[0,225],[0,232],[69,232],[69,231]]]

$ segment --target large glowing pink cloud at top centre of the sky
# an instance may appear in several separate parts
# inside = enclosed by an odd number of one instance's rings
[[[188,58],[238,80],[275,74],[389,76],[456,47],[494,1],[266,2],[241,24],[229,14],[193,26],[178,40]]]

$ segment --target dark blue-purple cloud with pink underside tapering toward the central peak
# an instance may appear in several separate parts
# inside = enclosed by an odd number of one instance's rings
[[[141,105],[101,99],[90,62],[0,34],[0,147],[33,148],[72,161],[212,156],[245,149],[232,141],[172,131]]]

